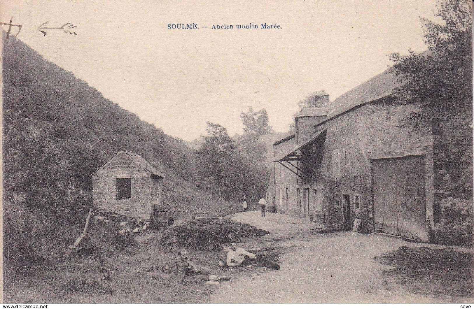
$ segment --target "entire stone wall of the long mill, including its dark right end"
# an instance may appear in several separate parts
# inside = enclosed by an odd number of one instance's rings
[[[426,235],[419,239],[446,242],[454,238],[472,241],[473,231],[473,145],[472,118],[457,116],[418,131],[401,126],[415,108],[411,105],[385,105],[382,100],[365,103],[312,129],[305,123],[298,130],[304,136],[326,129],[322,160],[313,179],[302,180],[280,164],[274,168],[276,204],[279,212],[304,217],[296,191],[310,191],[311,208],[320,205],[327,227],[343,227],[343,195],[351,198],[352,222],[362,219],[363,230],[374,230],[371,159],[422,155],[425,171]],[[318,121],[317,121],[318,122]],[[316,123],[317,123],[316,122]],[[298,122],[300,124],[300,122]],[[294,140],[275,145],[275,156],[291,151]],[[292,168],[294,170],[294,168]],[[282,191],[280,191],[282,189]],[[289,195],[286,198],[286,189]],[[316,200],[312,189],[317,190]],[[285,203],[280,203],[280,192]],[[339,200],[336,200],[338,195]],[[354,209],[354,195],[360,209]],[[337,205],[338,204],[338,205]],[[314,214],[315,209],[311,210]],[[314,219],[314,218],[313,218]],[[352,223],[351,222],[351,223]]]

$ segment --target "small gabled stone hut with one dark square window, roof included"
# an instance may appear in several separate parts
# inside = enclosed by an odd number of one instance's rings
[[[98,209],[149,220],[152,206],[163,203],[164,175],[123,148],[91,176],[93,203]]]

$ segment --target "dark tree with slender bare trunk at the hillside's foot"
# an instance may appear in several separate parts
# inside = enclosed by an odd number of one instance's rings
[[[204,142],[198,150],[198,160],[201,172],[214,178],[220,197],[229,159],[235,153],[235,144],[228,136],[227,129],[219,124],[207,122],[206,131],[208,136],[203,136]]]

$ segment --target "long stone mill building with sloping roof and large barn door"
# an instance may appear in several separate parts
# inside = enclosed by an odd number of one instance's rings
[[[397,85],[381,73],[300,109],[294,134],[273,144],[269,206],[327,227],[470,241],[472,118],[403,127],[415,107],[392,102]]]

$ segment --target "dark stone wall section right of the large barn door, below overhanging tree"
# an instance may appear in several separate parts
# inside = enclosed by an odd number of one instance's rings
[[[473,241],[473,131],[471,115],[433,123],[435,200],[431,241]]]

